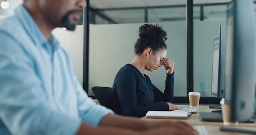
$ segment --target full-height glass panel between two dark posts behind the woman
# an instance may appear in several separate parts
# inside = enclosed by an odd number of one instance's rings
[[[138,28],[145,23],[151,23],[159,24],[167,31],[167,57],[175,62],[174,96],[186,97],[186,2],[186,0],[129,3],[115,1],[116,7],[114,7],[110,6],[110,3],[104,6],[98,1],[91,1],[90,18],[99,16],[101,21],[91,20],[89,26],[89,96],[93,96],[91,90],[93,86],[112,87],[118,70],[132,62],[135,57],[134,43],[139,37]],[[164,67],[152,72],[145,71],[145,74],[149,75],[156,87],[164,91],[166,76]]]

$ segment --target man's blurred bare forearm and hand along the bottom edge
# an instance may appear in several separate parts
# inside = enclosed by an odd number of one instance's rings
[[[111,134],[111,135],[154,135],[154,134],[198,134],[191,125],[172,120],[142,120],[132,117],[108,114],[101,119],[98,127],[81,124],[80,134]]]

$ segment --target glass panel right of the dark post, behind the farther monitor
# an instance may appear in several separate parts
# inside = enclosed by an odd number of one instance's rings
[[[194,91],[201,97],[211,95],[213,40],[219,37],[219,25],[226,31],[227,2],[199,4],[194,1]],[[196,4],[195,4],[196,3]]]

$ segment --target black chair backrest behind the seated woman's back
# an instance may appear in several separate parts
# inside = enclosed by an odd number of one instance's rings
[[[100,102],[102,106],[105,106],[108,109],[112,109],[111,89],[111,87],[92,87],[92,91],[94,95],[97,97],[98,102]]]

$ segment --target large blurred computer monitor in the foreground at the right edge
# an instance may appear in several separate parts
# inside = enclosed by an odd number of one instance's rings
[[[254,5],[233,0],[227,6],[226,87],[231,120],[248,119],[253,112],[256,83]]]

